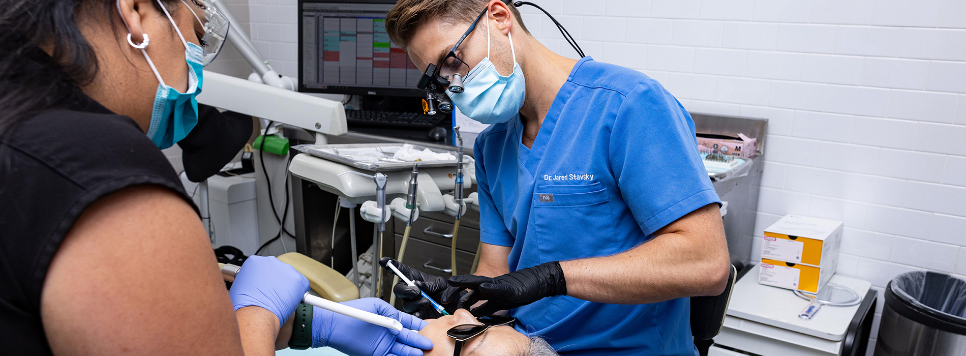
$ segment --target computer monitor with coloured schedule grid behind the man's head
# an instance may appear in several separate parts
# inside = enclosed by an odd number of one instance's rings
[[[394,0],[299,0],[298,91],[422,97],[422,73],[389,41]]]

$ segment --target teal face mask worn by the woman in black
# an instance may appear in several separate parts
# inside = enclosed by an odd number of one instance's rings
[[[178,25],[171,18],[171,14],[164,8],[164,4],[161,4],[160,1],[157,3],[161,5],[164,15],[167,15],[171,25],[175,27],[175,33],[178,34],[182,44],[185,44],[185,61],[190,69],[187,72],[187,89],[185,93],[181,93],[165,84],[161,74],[157,73],[155,63],[151,61],[148,52],[144,50],[144,47],[148,44],[147,35],[145,35],[144,43],[138,45],[131,43],[134,47],[141,49],[144,58],[148,60],[148,65],[151,66],[151,71],[157,77],[157,91],[155,93],[155,104],[151,110],[151,125],[148,127],[148,137],[151,137],[155,145],[163,150],[184,139],[198,124],[198,101],[196,97],[201,93],[204,55],[201,46],[185,41],[185,37],[182,36]],[[120,11],[120,4],[118,10]],[[129,35],[128,42],[130,42]]]

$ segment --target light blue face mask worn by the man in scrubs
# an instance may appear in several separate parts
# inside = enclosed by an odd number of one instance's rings
[[[483,124],[510,121],[517,115],[520,108],[524,107],[526,100],[524,71],[517,63],[517,53],[513,49],[513,35],[507,35],[510,38],[510,53],[513,55],[513,73],[506,76],[500,75],[490,61],[490,26],[488,25],[486,58],[473,67],[463,79],[462,93],[446,91],[453,104],[460,108],[460,112]]]

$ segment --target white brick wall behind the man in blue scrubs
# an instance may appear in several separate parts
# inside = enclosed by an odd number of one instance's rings
[[[537,3],[588,55],[650,75],[691,111],[770,119],[759,238],[784,214],[841,220],[838,273],[880,295],[906,271],[966,274],[966,0]],[[253,41],[291,76],[296,4],[249,0]]]

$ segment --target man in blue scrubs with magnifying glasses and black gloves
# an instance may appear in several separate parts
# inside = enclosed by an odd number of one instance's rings
[[[473,148],[476,276],[419,286],[450,307],[488,301],[477,315],[507,310],[561,355],[696,355],[687,297],[721,294],[729,262],[681,104],[637,71],[555,54],[500,0],[400,0],[385,25],[418,68],[462,74],[465,91],[447,94],[492,124]],[[407,309],[425,302],[407,288]]]

